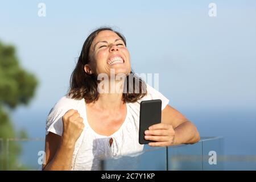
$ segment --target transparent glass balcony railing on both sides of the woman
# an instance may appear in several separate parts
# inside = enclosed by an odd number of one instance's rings
[[[224,155],[223,138],[195,144],[144,146],[142,152],[102,160],[102,170],[255,170],[256,156]],[[1,139],[0,170],[41,170],[44,138]]]

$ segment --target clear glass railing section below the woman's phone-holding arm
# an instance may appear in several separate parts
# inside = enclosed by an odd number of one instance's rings
[[[140,153],[102,160],[102,170],[223,170],[223,139],[203,137],[195,144],[144,146]]]

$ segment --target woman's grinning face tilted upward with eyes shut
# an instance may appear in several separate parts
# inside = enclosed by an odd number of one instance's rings
[[[113,31],[104,30],[98,33],[90,46],[89,57],[88,66],[96,75],[106,73],[110,76],[110,69],[114,69],[115,75],[128,75],[131,71],[129,51],[123,40]],[[85,71],[89,68],[85,68]]]

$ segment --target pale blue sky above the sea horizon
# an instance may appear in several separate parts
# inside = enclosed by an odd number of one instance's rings
[[[126,36],[135,72],[159,73],[176,109],[255,111],[255,1],[1,1],[0,22],[0,40],[39,80],[18,114],[47,112],[67,92],[82,44],[100,26]]]

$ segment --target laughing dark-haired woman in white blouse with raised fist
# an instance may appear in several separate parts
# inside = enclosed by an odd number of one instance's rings
[[[162,100],[162,121],[145,131],[150,146],[196,143],[196,127],[168,99],[138,77],[139,92],[123,93],[129,81],[111,78],[131,72],[125,37],[112,28],[99,28],[85,40],[71,76],[69,93],[51,109],[46,124],[44,170],[97,170],[100,159],[143,150],[138,142],[139,103]],[[110,76],[98,79],[100,75]],[[102,89],[98,86],[104,82]],[[109,84],[108,84],[109,83]],[[100,92],[114,83],[114,92]],[[121,86],[120,86],[121,83]],[[120,92],[121,91],[121,92]]]

